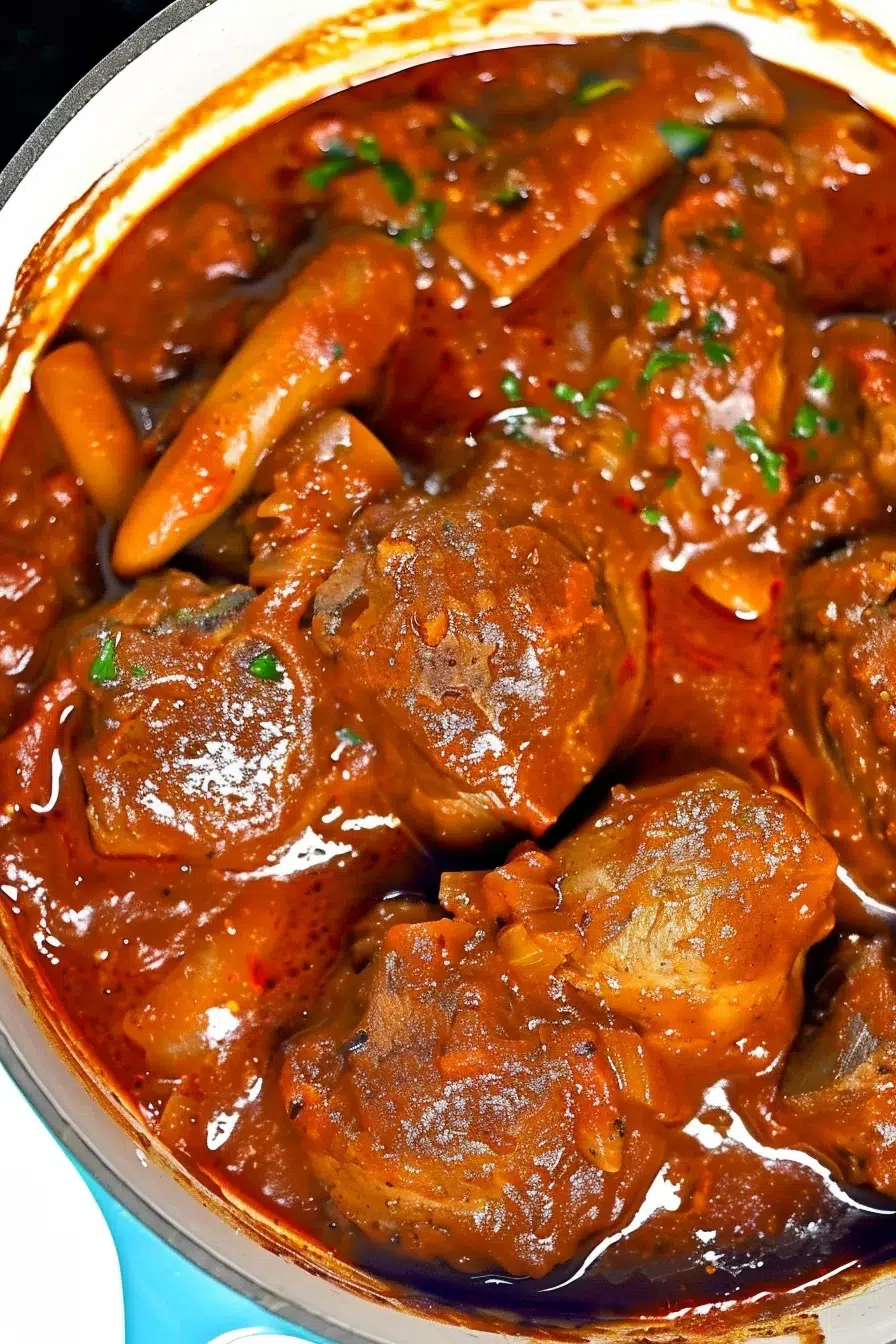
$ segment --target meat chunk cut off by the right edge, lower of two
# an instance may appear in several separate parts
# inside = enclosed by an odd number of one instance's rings
[[[852,1181],[896,1196],[896,964],[844,938],[782,1079],[776,1118]]]

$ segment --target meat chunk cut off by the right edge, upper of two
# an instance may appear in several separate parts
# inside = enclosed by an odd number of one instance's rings
[[[811,814],[870,895],[896,900],[896,546],[870,536],[794,581],[782,746]]]

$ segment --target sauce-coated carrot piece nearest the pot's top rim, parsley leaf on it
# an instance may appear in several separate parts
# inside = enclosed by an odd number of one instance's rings
[[[645,43],[642,82],[598,81],[523,151],[498,155],[486,172],[472,159],[439,242],[493,294],[513,298],[676,155],[697,152],[708,128],[780,122],[779,91],[737,39],[705,31],[693,43],[700,60]]]

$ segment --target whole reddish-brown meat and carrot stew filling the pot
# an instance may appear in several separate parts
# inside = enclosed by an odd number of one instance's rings
[[[895,184],[719,30],[455,56],[38,367],[7,937],[285,1246],[547,1321],[896,1251]]]

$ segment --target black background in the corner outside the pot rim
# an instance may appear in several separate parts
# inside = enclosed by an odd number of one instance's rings
[[[0,0],[0,168],[71,86],[168,0]]]

